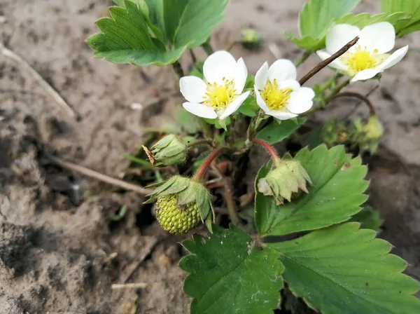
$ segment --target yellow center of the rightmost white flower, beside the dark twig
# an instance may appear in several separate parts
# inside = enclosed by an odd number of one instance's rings
[[[356,75],[365,69],[372,69],[384,61],[384,55],[377,55],[378,50],[372,52],[366,47],[357,46],[354,52],[345,53],[340,60],[346,65],[350,76]]]

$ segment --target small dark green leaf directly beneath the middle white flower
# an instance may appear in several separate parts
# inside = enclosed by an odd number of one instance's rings
[[[305,117],[300,117],[297,118],[297,123],[293,120],[281,121],[281,123],[273,121],[260,130],[256,138],[262,139],[268,144],[276,144],[292,135],[306,120]]]

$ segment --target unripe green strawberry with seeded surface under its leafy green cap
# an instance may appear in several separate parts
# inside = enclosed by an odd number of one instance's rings
[[[211,228],[214,212],[210,194],[200,182],[176,175],[158,184],[149,197],[146,203],[156,200],[156,219],[165,231],[187,233],[200,221]]]

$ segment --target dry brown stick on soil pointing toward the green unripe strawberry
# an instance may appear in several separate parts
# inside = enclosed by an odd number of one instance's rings
[[[52,161],[52,163],[55,163],[56,165],[59,165],[62,168],[66,168],[68,170],[81,173],[82,175],[85,175],[87,177],[91,177],[93,179],[97,179],[99,181],[105,182],[107,184],[111,184],[113,186],[118,186],[121,189],[125,189],[127,191],[134,191],[136,193],[139,193],[141,195],[148,195],[150,193],[153,193],[153,189],[145,189],[144,187],[138,186],[136,184],[131,184],[128,182],[125,182],[120,179],[116,179],[113,177],[109,177],[108,175],[104,175],[100,172],[96,172],[94,170],[87,169],[81,165],[76,165],[74,163],[69,163],[67,161],[62,161],[61,159],[50,155],[50,153],[44,152],[45,156]]]

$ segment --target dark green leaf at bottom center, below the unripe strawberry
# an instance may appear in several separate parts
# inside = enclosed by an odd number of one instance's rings
[[[190,273],[183,290],[192,296],[192,314],[272,314],[283,287],[281,265],[273,250],[258,250],[251,237],[231,226],[213,226],[207,238],[183,241],[193,255],[179,266]]]

